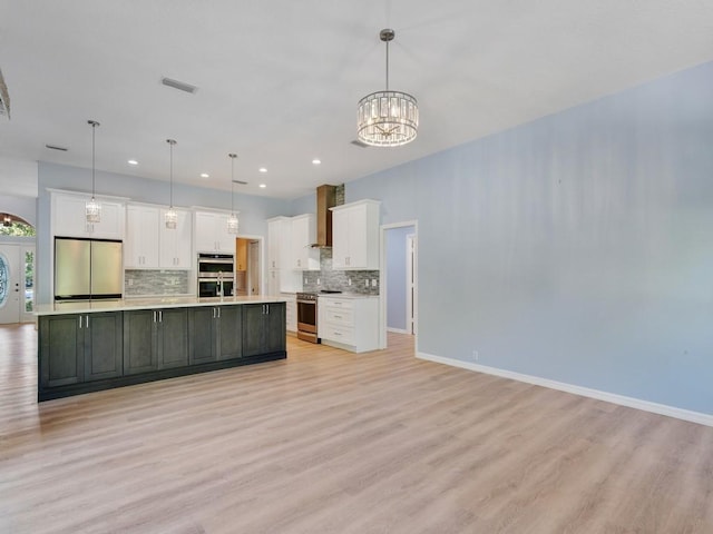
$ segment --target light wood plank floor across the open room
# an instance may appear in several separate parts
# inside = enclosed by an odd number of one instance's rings
[[[0,328],[0,532],[713,533],[713,428],[389,344],[38,406]]]

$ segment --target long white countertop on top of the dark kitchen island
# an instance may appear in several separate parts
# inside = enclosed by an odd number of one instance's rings
[[[85,300],[85,301],[61,301],[55,304],[40,304],[36,306],[35,315],[60,315],[60,314],[91,314],[98,312],[125,312],[133,309],[157,309],[157,308],[188,308],[194,306],[229,306],[240,304],[270,304],[284,303],[285,297],[261,295],[256,297],[137,297],[116,300]]]

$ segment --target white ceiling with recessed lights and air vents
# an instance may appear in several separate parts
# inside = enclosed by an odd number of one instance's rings
[[[421,128],[358,148],[387,27]],[[176,181],[229,190],[235,151],[236,191],[296,198],[710,60],[702,0],[0,0],[0,158],[90,167],[96,119],[98,169],[167,180],[174,138]]]

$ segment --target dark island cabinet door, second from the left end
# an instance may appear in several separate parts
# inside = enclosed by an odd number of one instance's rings
[[[85,318],[85,380],[123,376],[121,313],[86,314]]]

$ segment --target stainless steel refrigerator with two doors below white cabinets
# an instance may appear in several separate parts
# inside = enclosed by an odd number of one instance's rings
[[[121,241],[55,238],[55,300],[121,298]]]

